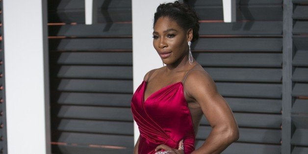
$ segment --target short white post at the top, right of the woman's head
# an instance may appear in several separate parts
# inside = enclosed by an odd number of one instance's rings
[[[224,22],[236,22],[236,0],[223,0]]]

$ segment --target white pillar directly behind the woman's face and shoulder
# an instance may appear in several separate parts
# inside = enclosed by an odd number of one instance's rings
[[[160,3],[174,0],[132,0],[132,60],[133,91],[142,82],[144,75],[163,63],[153,47],[154,13]],[[134,141],[139,136],[137,125],[134,125]]]

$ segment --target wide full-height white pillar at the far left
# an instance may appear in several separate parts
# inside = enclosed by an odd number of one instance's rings
[[[47,0],[3,0],[8,154],[50,154]]]

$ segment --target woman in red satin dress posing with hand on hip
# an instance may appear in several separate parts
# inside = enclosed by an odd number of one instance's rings
[[[148,72],[132,97],[140,131],[134,154],[217,154],[238,139],[229,105],[191,55],[198,20],[193,9],[178,1],[157,7],[153,45],[166,66]],[[195,150],[203,115],[212,130]]]

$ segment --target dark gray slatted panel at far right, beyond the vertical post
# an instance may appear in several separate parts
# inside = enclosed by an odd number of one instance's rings
[[[293,154],[308,153],[308,0],[293,0],[292,139]]]

